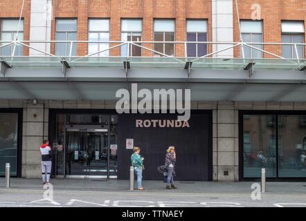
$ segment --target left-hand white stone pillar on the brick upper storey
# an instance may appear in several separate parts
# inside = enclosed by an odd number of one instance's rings
[[[52,0],[31,0],[30,11],[30,41],[51,40]],[[49,43],[31,43],[31,47],[50,53]],[[30,56],[44,53],[30,49]]]

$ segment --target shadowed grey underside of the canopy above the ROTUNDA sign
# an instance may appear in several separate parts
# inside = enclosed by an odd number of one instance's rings
[[[83,99],[117,100],[116,91],[131,88],[126,82],[82,82],[74,81],[19,81],[19,86],[0,82],[0,99]],[[73,87],[71,86],[73,84]],[[138,90],[147,88],[190,88],[193,101],[296,101],[305,102],[306,86],[299,84],[242,84],[234,83],[161,83],[138,82]],[[294,90],[288,90],[294,88]],[[24,93],[27,91],[27,93]],[[78,93],[77,93],[78,91]],[[81,94],[81,95],[80,95]],[[229,95],[231,95],[229,97]]]

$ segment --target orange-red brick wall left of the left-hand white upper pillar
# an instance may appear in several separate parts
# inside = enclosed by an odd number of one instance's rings
[[[0,1],[0,20],[1,19],[19,19],[22,0],[1,0]],[[24,3],[24,11],[21,15],[24,19],[24,40],[30,39],[30,0]],[[0,23],[1,30],[1,23]],[[24,55],[28,55],[28,48],[24,47]]]

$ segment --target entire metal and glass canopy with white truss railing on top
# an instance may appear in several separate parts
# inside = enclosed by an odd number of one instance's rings
[[[55,56],[35,44],[101,44],[107,49],[84,56]],[[154,44],[181,45],[185,56],[157,52]],[[115,100],[120,88],[190,88],[197,101],[306,101],[306,59],[286,59],[254,45],[270,43],[186,42],[186,41],[0,41],[1,48],[22,45],[40,52],[39,56],[1,57],[0,99],[109,99]],[[188,57],[188,44],[223,44],[222,50],[202,57]],[[141,47],[151,57],[98,57],[100,53],[126,45]],[[144,46],[145,45],[145,46]],[[148,46],[150,45],[151,48]],[[305,44],[278,44],[304,46]],[[222,52],[249,47],[269,58],[224,57]],[[213,47],[210,47],[213,48]],[[297,51],[296,51],[297,53]],[[154,55],[154,56],[153,56]],[[220,56],[219,56],[220,55]],[[298,55],[298,54],[296,54]],[[265,57],[265,56],[264,56]]]

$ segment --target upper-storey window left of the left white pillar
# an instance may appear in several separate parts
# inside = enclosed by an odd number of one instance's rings
[[[19,31],[18,31],[19,26]],[[1,25],[1,41],[15,41],[18,32],[19,41],[24,40],[24,20],[21,20],[19,25],[19,19],[3,19]],[[8,44],[8,43],[3,43]],[[6,46],[0,49],[1,55],[11,56],[14,46]],[[19,44],[16,45],[15,55],[23,55],[23,47]]]

